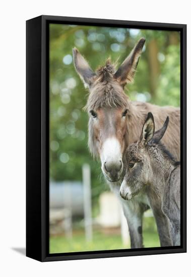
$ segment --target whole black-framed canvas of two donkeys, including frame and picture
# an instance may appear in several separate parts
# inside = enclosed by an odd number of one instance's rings
[[[186,25],[26,26],[26,255],[186,252]]]

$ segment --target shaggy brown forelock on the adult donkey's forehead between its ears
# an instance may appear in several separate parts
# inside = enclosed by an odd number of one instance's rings
[[[100,108],[126,108],[128,107],[128,96],[122,87],[113,78],[115,64],[108,58],[104,66],[96,71],[94,84],[90,89],[90,95],[84,109],[86,111]]]

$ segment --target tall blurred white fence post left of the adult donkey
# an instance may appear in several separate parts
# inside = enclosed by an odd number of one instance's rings
[[[92,201],[91,201],[91,173],[90,166],[82,167],[84,189],[84,226],[86,241],[92,240]]]

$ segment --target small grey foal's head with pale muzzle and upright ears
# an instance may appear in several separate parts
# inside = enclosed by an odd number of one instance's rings
[[[160,140],[166,131],[168,121],[167,116],[163,127],[155,132],[153,115],[151,112],[148,113],[139,142],[130,145],[126,150],[127,167],[120,187],[122,198],[130,200],[147,184],[152,183],[153,166],[157,168],[155,163],[162,160]]]

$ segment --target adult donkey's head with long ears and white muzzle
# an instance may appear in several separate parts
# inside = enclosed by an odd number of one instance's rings
[[[144,43],[144,38],[139,40],[118,70],[107,59],[96,72],[73,49],[76,71],[90,92],[85,107],[89,114],[89,149],[94,157],[100,157],[102,172],[110,182],[118,181],[123,170],[130,109],[124,86],[133,81]]]

